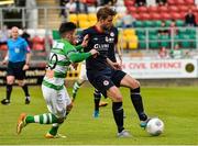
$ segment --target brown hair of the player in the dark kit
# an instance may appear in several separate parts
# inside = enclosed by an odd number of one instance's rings
[[[114,16],[117,14],[117,12],[114,10],[112,10],[109,7],[102,7],[98,10],[97,12],[97,19],[98,21],[101,20],[106,20],[109,15]]]

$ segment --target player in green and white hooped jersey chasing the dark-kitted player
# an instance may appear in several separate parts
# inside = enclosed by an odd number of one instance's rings
[[[54,43],[51,49],[46,75],[42,83],[43,97],[46,101],[50,113],[41,115],[28,115],[22,113],[18,120],[16,133],[30,123],[52,124],[52,128],[46,133],[46,138],[65,137],[57,133],[59,125],[65,121],[72,110],[72,100],[64,86],[68,66],[72,63],[79,63],[88,57],[96,57],[98,52],[91,49],[88,53],[78,50],[87,46],[88,36],[84,37],[81,45],[74,46],[76,25],[72,22],[62,23],[59,34],[62,40]]]

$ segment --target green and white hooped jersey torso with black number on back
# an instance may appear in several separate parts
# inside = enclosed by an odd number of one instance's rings
[[[52,77],[47,74],[43,79],[43,85],[55,90],[64,88],[64,81],[70,65],[69,54],[76,53],[75,46],[65,40],[56,41],[50,54],[47,70],[53,72]]]

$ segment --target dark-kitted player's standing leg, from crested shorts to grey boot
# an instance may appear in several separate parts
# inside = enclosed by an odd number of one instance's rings
[[[106,70],[103,72],[94,76],[94,74],[87,74],[90,83],[101,91],[105,97],[109,97],[112,100],[112,113],[113,119],[118,127],[118,136],[119,137],[128,137],[130,134],[124,131],[123,126],[123,108],[122,108],[122,94],[120,90],[114,86],[111,81]],[[111,74],[111,72],[110,72]],[[109,74],[108,74],[109,75]]]

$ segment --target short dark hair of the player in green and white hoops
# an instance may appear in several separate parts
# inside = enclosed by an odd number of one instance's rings
[[[70,31],[74,31],[76,29],[76,24],[73,23],[73,22],[65,22],[65,23],[62,23],[61,26],[59,26],[59,35],[63,36],[66,32],[70,32]]]

